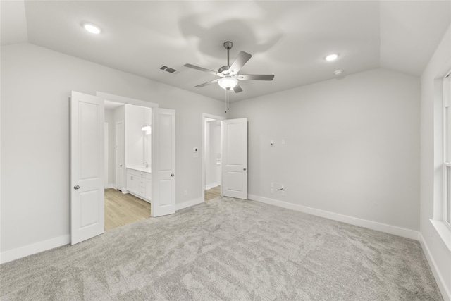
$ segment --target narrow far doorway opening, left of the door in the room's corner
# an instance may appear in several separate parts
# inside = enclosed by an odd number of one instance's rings
[[[225,117],[202,114],[202,198],[221,197],[222,121]]]

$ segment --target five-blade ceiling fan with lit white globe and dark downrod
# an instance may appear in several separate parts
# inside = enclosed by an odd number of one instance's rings
[[[235,61],[233,61],[232,65],[230,65],[229,51],[232,49],[233,43],[230,41],[224,42],[224,47],[227,49],[227,65],[219,68],[218,72],[199,66],[194,66],[190,63],[186,63],[184,65],[185,67],[211,73],[219,77],[216,80],[211,80],[209,82],[204,82],[201,85],[197,85],[197,88],[205,87],[206,85],[211,85],[218,82],[218,85],[221,88],[233,90],[235,93],[239,93],[242,92],[242,88],[238,85],[239,80],[273,80],[274,75],[239,74],[242,66],[244,66],[252,56],[245,51],[241,51]]]

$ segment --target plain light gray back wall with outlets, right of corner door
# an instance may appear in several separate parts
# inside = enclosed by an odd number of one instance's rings
[[[419,78],[378,68],[234,102],[248,195],[418,231],[419,98]]]

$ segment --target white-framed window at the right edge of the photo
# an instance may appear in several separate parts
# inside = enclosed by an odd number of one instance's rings
[[[443,81],[443,222],[451,229],[451,72]]]

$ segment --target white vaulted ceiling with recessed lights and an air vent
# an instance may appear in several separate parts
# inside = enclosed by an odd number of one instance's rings
[[[217,70],[252,54],[240,73],[274,74],[241,82],[230,101],[385,67],[421,75],[450,25],[451,1],[0,1],[1,44],[30,42],[207,97],[224,100]],[[101,35],[81,24],[94,23]],[[324,57],[338,53],[339,59]],[[181,73],[159,70],[170,66]]]

